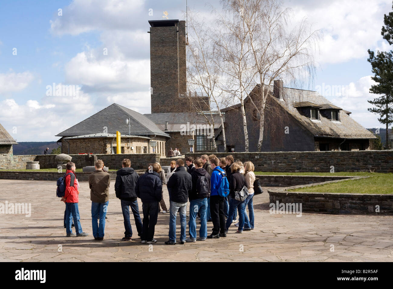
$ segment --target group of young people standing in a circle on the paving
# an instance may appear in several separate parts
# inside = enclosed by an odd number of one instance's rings
[[[244,164],[233,156],[217,158],[215,155],[202,155],[195,160],[192,157],[171,162],[171,167],[165,175],[158,162],[149,164],[145,173],[141,176],[131,168],[129,159],[122,161],[122,168],[117,171],[115,192],[121,201],[121,209],[124,219],[124,241],[132,241],[132,227],[130,223],[130,211],[134,215],[135,226],[141,243],[156,243],[154,239],[155,225],[160,212],[169,212],[169,240],[167,245],[175,245],[176,242],[176,216],[180,214],[180,243],[196,242],[196,220],[199,220],[198,240],[207,238],[219,239],[226,234],[233,224],[237,233],[253,230],[253,184],[255,181],[254,165],[248,161]],[[66,202],[65,226],[67,237],[88,236],[82,231],[79,221],[78,195],[79,184],[75,174],[75,164],[67,163],[65,175],[66,192],[61,199]],[[95,171],[89,176],[90,199],[92,201],[92,230],[94,239],[103,240],[105,235],[105,217],[109,201],[109,174],[103,171],[102,160],[95,163]],[[73,177],[72,177],[73,175]],[[229,195],[223,197],[222,179],[229,182]],[[163,186],[167,185],[169,193],[169,211],[163,199]],[[248,195],[244,200],[235,197],[243,188],[248,189]],[[142,202],[143,220],[141,220],[138,207],[138,198]],[[187,229],[187,201],[189,208],[189,237]],[[246,213],[248,208],[248,215]],[[239,221],[237,220],[239,215]],[[72,233],[72,219],[75,223],[76,234]],[[98,220],[99,219],[99,222]],[[207,232],[207,222],[213,223],[210,235]]]

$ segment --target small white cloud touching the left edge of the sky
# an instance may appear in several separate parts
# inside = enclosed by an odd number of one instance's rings
[[[24,90],[33,81],[31,72],[0,73],[0,93]]]

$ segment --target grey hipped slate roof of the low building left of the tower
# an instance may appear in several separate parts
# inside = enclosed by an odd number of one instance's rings
[[[117,103],[113,103],[56,136],[80,136],[103,133],[105,127],[107,128],[107,133],[110,134],[116,134],[116,131],[119,131],[121,134],[129,134],[129,125],[126,123],[127,118],[130,118],[132,135],[148,136],[156,134],[169,137],[169,134],[164,133],[153,121],[143,114],[127,109],[127,107],[123,107]]]

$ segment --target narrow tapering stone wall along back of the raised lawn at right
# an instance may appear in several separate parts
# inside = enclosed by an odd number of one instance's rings
[[[256,175],[264,187],[288,187],[317,182],[328,182],[332,180],[345,180],[352,177],[347,176],[288,176],[288,175]]]

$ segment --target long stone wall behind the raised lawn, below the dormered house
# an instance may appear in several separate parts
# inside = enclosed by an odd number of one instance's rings
[[[202,153],[187,153],[186,156],[201,156]],[[218,157],[229,153],[216,153]],[[369,171],[376,173],[393,172],[393,151],[288,151],[262,153],[232,153],[233,158],[242,162],[250,160],[255,171],[277,172],[334,172]]]

